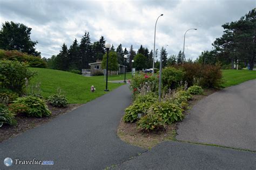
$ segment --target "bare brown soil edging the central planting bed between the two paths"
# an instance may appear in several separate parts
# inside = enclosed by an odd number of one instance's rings
[[[189,108],[197,104],[199,100],[209,96],[210,94],[216,91],[218,90],[205,89],[204,94],[193,95],[192,100],[188,101],[188,110],[184,112],[185,116],[189,113],[190,111]],[[172,125],[167,125],[165,131],[143,133],[137,129],[136,123],[125,123],[122,119],[118,126],[117,135],[121,140],[131,145],[150,149],[162,141],[176,140],[176,130],[177,130],[178,124],[179,122],[174,123]]]

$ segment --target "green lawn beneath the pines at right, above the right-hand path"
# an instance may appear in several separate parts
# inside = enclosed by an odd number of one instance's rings
[[[251,70],[222,70],[224,83],[222,87],[240,84],[247,80],[256,79],[256,71]]]

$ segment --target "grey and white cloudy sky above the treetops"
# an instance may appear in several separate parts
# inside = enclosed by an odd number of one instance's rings
[[[31,39],[42,57],[57,55],[63,43],[80,41],[89,31],[92,42],[104,36],[117,47],[127,49],[140,44],[153,49],[157,23],[156,49],[165,46],[169,55],[183,49],[186,58],[196,59],[211,50],[215,38],[223,34],[221,25],[237,21],[256,7],[255,0],[229,1],[43,1],[0,0],[0,22],[14,21],[32,28]]]

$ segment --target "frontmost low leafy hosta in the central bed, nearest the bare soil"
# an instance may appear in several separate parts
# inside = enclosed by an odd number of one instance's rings
[[[163,130],[165,128],[165,123],[163,118],[159,114],[154,112],[149,112],[144,117],[142,117],[138,123],[138,128],[141,131],[153,131],[153,130]]]

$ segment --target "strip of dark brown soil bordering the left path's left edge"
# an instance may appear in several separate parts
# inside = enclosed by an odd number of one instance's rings
[[[42,125],[53,118],[57,117],[60,114],[64,114],[74,110],[75,108],[79,107],[82,104],[69,104],[68,107],[65,108],[58,108],[53,107],[48,104],[49,110],[52,112],[51,117],[43,117],[43,118],[33,118],[33,117],[26,117],[25,115],[17,115],[17,126],[11,126],[4,124],[0,128],[0,142],[7,140],[11,137],[14,137],[20,133],[23,133],[31,128],[37,127]]]

